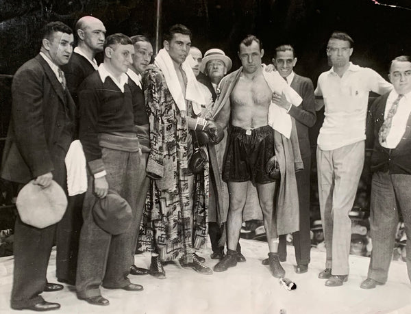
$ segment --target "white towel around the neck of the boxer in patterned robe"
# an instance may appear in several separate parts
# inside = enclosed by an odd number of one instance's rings
[[[190,57],[190,55],[188,55]],[[183,62],[182,70],[186,73],[187,86],[186,95],[183,95],[182,87],[179,84],[177,73],[175,72],[173,60],[169,53],[165,49],[158,51],[158,55],[155,57],[155,65],[160,68],[166,79],[167,87],[171,92],[171,96],[180,111],[187,111],[186,100],[192,101],[192,109],[195,114],[201,112],[201,105],[206,105],[206,100],[198,86],[197,79],[190,67],[189,61]]]

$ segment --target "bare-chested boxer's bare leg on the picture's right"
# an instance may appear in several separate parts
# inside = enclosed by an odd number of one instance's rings
[[[270,252],[273,253],[278,252],[277,222],[274,213],[275,184],[276,182],[257,185],[258,200],[264,218],[267,242]]]

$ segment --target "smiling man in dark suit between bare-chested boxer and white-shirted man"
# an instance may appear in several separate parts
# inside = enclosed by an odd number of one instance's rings
[[[308,271],[310,263],[310,165],[311,150],[308,129],[312,127],[316,120],[314,87],[312,81],[307,77],[301,77],[294,73],[292,68],[297,64],[294,49],[289,44],[284,44],[275,49],[273,64],[279,75],[281,75],[303,99],[299,107],[286,103],[284,97],[278,104],[288,111],[288,114],[295,118],[297,136],[301,158],[304,169],[295,174],[297,179],[297,189],[299,196],[299,231],[292,233],[292,244],[295,248],[295,259],[297,267],[295,272],[302,274]],[[286,235],[279,236],[279,260],[286,261]],[[265,260],[263,261],[263,263]],[[268,261],[267,261],[268,262]],[[267,264],[268,265],[268,264]]]

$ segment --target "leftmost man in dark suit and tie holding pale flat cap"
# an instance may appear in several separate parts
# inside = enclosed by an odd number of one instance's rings
[[[66,187],[64,157],[73,139],[75,105],[66,89],[60,66],[69,62],[73,31],[51,22],[42,31],[40,54],[14,75],[12,117],[5,143],[1,177],[48,187],[56,181]],[[42,291],[62,285],[47,283],[47,265],[58,224],[35,228],[16,219],[14,230],[14,280],[12,309],[49,311],[60,304],[46,302]]]

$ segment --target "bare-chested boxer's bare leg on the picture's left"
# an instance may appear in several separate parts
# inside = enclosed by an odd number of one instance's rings
[[[247,200],[246,182],[229,182],[229,211],[227,216],[227,248],[236,250],[242,224],[242,210]]]

